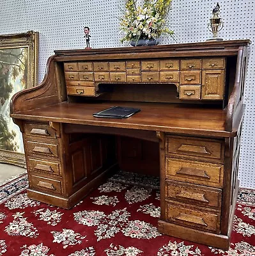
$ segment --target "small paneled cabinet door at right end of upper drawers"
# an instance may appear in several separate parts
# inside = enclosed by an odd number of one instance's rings
[[[224,83],[224,70],[203,70],[201,99],[222,100]]]

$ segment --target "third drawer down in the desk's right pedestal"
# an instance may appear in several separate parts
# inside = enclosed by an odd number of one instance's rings
[[[220,210],[222,190],[166,180],[166,197],[202,207]]]

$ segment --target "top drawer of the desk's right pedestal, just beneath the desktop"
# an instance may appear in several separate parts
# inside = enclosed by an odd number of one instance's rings
[[[180,157],[186,155],[224,160],[224,145],[221,141],[167,136],[166,150],[166,153]]]

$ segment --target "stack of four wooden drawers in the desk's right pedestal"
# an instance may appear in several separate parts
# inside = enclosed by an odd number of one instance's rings
[[[166,136],[167,221],[219,234],[224,143]]]

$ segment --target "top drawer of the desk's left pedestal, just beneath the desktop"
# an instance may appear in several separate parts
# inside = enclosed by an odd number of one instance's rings
[[[56,131],[46,124],[25,124],[25,134],[40,138],[56,138]]]

